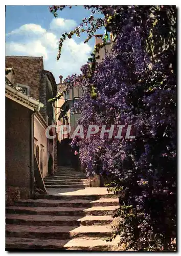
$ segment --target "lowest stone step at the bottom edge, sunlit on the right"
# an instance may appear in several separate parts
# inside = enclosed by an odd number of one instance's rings
[[[84,250],[84,251],[110,251],[112,242],[102,239],[37,239],[37,238],[6,238],[7,249],[58,249],[58,250]]]

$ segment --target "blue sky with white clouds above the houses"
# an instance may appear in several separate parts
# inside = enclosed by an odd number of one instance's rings
[[[83,43],[83,33],[80,38],[66,39],[57,61],[58,41],[62,33],[76,28],[82,18],[89,16],[90,11],[83,6],[58,11],[57,18],[50,13],[49,6],[6,6],[6,55],[43,56],[44,69],[53,73],[57,83],[60,75],[64,79],[79,74],[94,49],[95,38],[87,44]],[[99,33],[104,33],[104,29]]]

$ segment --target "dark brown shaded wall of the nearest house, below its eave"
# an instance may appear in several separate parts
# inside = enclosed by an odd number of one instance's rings
[[[31,114],[33,111],[6,98],[6,187],[31,193]]]

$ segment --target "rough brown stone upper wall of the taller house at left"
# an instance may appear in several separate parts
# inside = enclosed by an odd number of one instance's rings
[[[43,70],[43,57],[6,56],[6,68],[13,68],[15,74],[12,83],[15,86],[28,86],[30,96],[44,104],[40,109],[44,120],[47,122],[51,119],[53,108],[48,99],[56,95],[57,86],[53,74]]]

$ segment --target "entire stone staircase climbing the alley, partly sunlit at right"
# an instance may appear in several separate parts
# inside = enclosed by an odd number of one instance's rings
[[[52,186],[58,183],[60,191],[64,190],[63,185],[72,187],[77,182],[77,174],[70,179],[67,172],[68,169],[64,174],[59,170],[55,176],[46,178],[46,183],[49,179]],[[80,176],[78,182],[86,182],[85,177]],[[102,189],[85,186],[81,195],[77,195],[77,191],[71,195],[39,195],[6,207],[6,250],[111,250],[112,243],[106,239],[110,238],[111,216],[119,207],[119,201],[114,194],[102,193]]]

